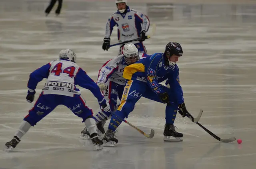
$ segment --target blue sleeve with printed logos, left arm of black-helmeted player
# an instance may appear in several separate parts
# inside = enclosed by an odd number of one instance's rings
[[[146,67],[146,79],[147,83],[150,85],[150,88],[156,93],[161,94],[165,91],[163,90],[162,85],[160,85],[156,79],[156,75],[159,71],[159,64],[162,64],[162,57],[159,57],[158,54],[153,54],[150,57],[150,62],[148,67]]]

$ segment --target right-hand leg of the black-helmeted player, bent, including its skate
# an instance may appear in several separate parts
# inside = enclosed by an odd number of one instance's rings
[[[164,141],[182,141],[183,134],[176,132],[174,126],[174,121],[178,110],[178,104],[176,103],[174,92],[172,92],[172,90],[170,88],[167,88],[166,86],[163,86],[163,88],[166,92],[168,92],[170,98],[170,104],[166,104],[165,108],[166,124],[164,125]],[[147,90],[149,92],[146,92],[143,95],[144,97],[157,102],[162,102],[159,96],[154,93],[149,86]]]

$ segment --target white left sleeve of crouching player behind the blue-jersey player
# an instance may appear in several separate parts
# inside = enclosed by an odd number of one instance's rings
[[[118,65],[122,61],[122,58],[123,58],[122,56],[119,56],[107,61],[99,71],[97,83],[99,82],[106,83],[106,81],[108,81],[108,78],[110,78],[111,75],[116,70],[118,70]]]

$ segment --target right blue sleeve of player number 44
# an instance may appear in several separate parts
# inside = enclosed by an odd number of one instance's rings
[[[101,102],[104,99],[99,86],[96,85],[96,83],[86,74],[86,72],[83,69],[80,68],[76,73],[74,83],[75,85],[79,85],[83,88],[90,90],[99,102]]]

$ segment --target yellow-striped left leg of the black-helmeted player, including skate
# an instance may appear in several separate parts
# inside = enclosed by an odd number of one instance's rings
[[[118,106],[118,109],[115,112],[117,116],[123,119],[128,118],[128,115],[134,109],[134,105],[146,91],[144,85],[146,85],[146,83],[132,80],[126,83],[120,106]],[[105,133],[105,136],[102,139],[105,142],[105,146],[114,146],[116,143],[118,143],[118,140],[114,138],[114,132],[122,123],[122,120],[117,116],[112,115],[108,126],[108,131]]]

